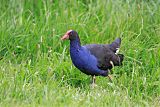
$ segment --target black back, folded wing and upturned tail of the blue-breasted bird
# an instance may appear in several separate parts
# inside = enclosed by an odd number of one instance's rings
[[[110,61],[113,62],[114,66],[122,65],[123,61],[123,54],[115,54],[117,48],[120,47],[121,39],[117,38],[111,44],[90,44],[85,45],[90,53],[94,55],[98,60],[98,67],[102,70],[112,69],[112,64]]]

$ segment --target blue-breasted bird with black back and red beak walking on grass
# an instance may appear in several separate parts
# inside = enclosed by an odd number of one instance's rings
[[[118,54],[121,38],[115,39],[111,44],[81,45],[78,33],[68,30],[61,40],[70,41],[70,57],[73,65],[81,72],[91,75],[92,85],[95,86],[96,76],[112,77],[109,71],[114,66],[122,65],[124,55]]]

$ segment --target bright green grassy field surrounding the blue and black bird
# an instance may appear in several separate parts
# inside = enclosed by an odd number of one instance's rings
[[[113,83],[76,69],[69,41],[122,38]],[[159,0],[1,0],[0,106],[160,106]]]

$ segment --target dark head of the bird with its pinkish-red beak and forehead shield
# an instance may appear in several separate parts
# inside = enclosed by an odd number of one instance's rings
[[[78,33],[74,30],[68,30],[63,37],[61,37],[61,40],[75,40],[78,37]]]

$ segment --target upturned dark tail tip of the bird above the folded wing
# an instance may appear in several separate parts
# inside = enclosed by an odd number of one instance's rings
[[[113,50],[113,52],[116,53],[116,51],[120,48],[120,45],[121,45],[121,38],[117,38],[109,46]]]

